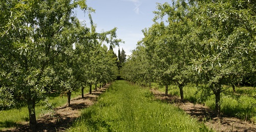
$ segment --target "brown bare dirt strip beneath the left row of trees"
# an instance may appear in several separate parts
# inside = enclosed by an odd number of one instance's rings
[[[100,94],[108,89],[110,84],[97,91],[93,91],[92,94],[84,95],[84,98],[74,98],[70,101],[71,106],[58,107],[54,109],[52,114],[47,114],[37,120],[37,127],[35,131],[66,131],[76,118],[80,116],[80,110],[93,105],[97,102],[97,98]],[[7,131],[30,131],[28,122],[20,125],[17,128]]]

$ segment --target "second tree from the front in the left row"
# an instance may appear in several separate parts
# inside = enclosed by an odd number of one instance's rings
[[[58,66],[54,67],[54,70],[56,71],[55,77],[59,82],[56,86],[59,88],[57,91],[67,94],[68,107],[70,106],[72,92],[80,88],[81,85],[79,81],[81,78],[81,74],[79,74],[81,72],[79,69],[81,61],[77,54],[79,52],[76,52],[76,48],[74,47],[74,43],[76,42],[77,37],[79,37],[79,29],[81,29],[81,26],[78,19],[74,19],[70,26],[63,28],[59,42],[61,42],[62,45],[66,45],[66,47],[59,53],[55,62]],[[83,32],[87,33],[89,31],[84,30]]]

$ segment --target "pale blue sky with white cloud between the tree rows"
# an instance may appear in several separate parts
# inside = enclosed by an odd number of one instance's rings
[[[144,37],[141,30],[153,25],[156,3],[165,2],[170,3],[171,0],[87,0],[87,5],[96,10],[92,13],[92,18],[97,25],[97,32],[117,27],[118,38],[125,41],[120,43],[120,50],[123,48],[126,55],[131,55],[131,50],[134,50],[137,42]],[[76,13],[80,20],[89,22],[87,14],[84,15],[83,11],[77,10]],[[117,53],[118,47],[114,51]]]

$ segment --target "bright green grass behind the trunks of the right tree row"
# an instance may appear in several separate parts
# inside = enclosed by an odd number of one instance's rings
[[[243,120],[256,122],[256,88],[236,87],[233,92],[232,87],[221,94],[221,113],[225,116],[236,117]],[[165,91],[163,86],[153,83],[153,89],[161,92]],[[196,85],[190,84],[183,87],[184,99],[192,103],[205,104],[210,109],[215,109],[215,95],[202,96]],[[168,87],[168,94],[180,97],[179,88],[175,85]]]

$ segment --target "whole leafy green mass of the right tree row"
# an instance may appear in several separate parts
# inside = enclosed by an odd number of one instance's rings
[[[168,85],[175,83],[181,99],[183,86],[203,83],[204,95],[215,95],[215,111],[220,116],[221,93],[226,90],[223,85],[254,83],[254,8],[249,1],[180,0],[157,4],[154,24],[142,31],[144,38],[137,46],[144,52],[136,49],[127,61],[129,66],[124,66],[128,69],[123,71],[133,69],[128,77],[143,82],[145,75],[140,74],[140,79],[137,75],[141,69],[137,67],[150,63],[142,71],[150,70],[155,82],[165,85],[166,95]],[[145,60],[134,61],[137,56],[145,56]]]

